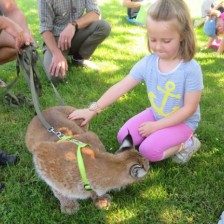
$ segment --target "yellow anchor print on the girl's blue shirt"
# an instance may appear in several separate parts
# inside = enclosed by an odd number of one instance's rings
[[[149,100],[151,102],[151,106],[153,107],[153,109],[161,116],[164,116],[164,117],[167,117],[169,116],[170,114],[174,113],[175,111],[177,111],[180,107],[177,106],[177,107],[174,107],[172,109],[172,111],[170,113],[164,113],[164,107],[166,105],[166,102],[168,100],[169,97],[174,97],[176,99],[180,99],[180,94],[173,94],[172,92],[175,90],[176,88],[176,85],[175,83],[171,82],[171,81],[168,81],[166,82],[166,85],[165,85],[165,90],[163,90],[160,86],[157,86],[157,89],[164,93],[164,97],[163,97],[163,100],[162,100],[162,103],[161,103],[161,106],[158,107],[156,106],[155,102],[154,102],[154,99],[156,98],[155,94],[153,92],[149,92],[148,93],[148,96],[149,96]]]

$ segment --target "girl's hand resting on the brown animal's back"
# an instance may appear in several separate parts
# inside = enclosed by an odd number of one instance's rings
[[[69,120],[84,119],[81,123],[81,127],[85,126],[97,113],[95,111],[90,111],[89,109],[79,109],[74,110],[68,115]]]

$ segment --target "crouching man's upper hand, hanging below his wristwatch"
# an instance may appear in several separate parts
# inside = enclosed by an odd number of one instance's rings
[[[58,48],[62,51],[68,50],[71,47],[72,38],[75,35],[75,27],[68,23],[65,29],[61,32],[58,39]]]

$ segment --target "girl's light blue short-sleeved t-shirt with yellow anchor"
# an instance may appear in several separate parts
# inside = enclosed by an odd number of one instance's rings
[[[143,81],[156,120],[169,116],[184,105],[184,94],[203,89],[203,77],[200,65],[193,59],[180,64],[170,72],[159,71],[158,56],[148,55],[137,62],[130,75]],[[195,130],[201,119],[200,108],[184,121]]]

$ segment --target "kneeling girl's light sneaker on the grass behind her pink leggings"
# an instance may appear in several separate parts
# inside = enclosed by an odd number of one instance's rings
[[[172,157],[172,160],[176,163],[186,163],[190,158],[199,150],[201,142],[195,137],[192,137],[192,146],[183,148],[180,152]]]

